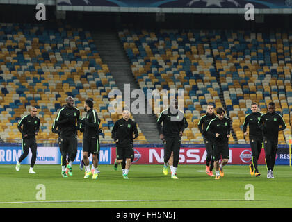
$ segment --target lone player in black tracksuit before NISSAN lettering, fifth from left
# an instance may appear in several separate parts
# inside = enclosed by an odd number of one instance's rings
[[[163,123],[163,127],[161,123]],[[173,151],[173,167],[170,169],[172,179],[178,179],[176,173],[177,165],[179,164],[181,137],[187,127],[188,122],[184,117],[184,113],[178,110],[177,99],[170,101],[170,107],[167,110],[163,110],[157,119],[157,128],[164,146],[164,175],[168,175],[168,161]]]

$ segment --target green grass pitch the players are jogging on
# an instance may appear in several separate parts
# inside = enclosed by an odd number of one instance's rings
[[[288,166],[275,166],[275,179],[266,178],[266,166],[259,166],[261,176],[256,178],[250,176],[248,166],[227,165],[220,180],[207,176],[204,165],[179,165],[179,180],[163,176],[162,169],[162,165],[132,165],[129,180],[124,180],[120,166],[114,171],[113,165],[100,165],[98,180],[92,180],[84,179],[77,165],[68,178],[61,177],[58,165],[35,165],[35,175],[28,173],[29,165],[22,165],[19,172],[15,165],[0,165],[0,207],[292,207],[292,168]],[[45,201],[36,199],[38,184],[45,186]],[[245,185],[254,187],[255,201],[245,200],[250,195],[246,192],[252,191]]]

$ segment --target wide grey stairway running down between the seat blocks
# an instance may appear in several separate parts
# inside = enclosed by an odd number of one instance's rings
[[[117,87],[122,91],[123,99],[125,84],[130,84],[130,92],[132,92],[133,89],[140,89],[131,73],[130,62],[122,47],[117,32],[92,32],[92,39],[95,41],[99,56],[102,58],[102,61],[108,65]],[[135,99],[131,99],[131,102],[134,100]],[[140,130],[142,130],[143,135],[145,135],[148,143],[161,143],[154,114],[132,115],[136,123],[138,123]]]

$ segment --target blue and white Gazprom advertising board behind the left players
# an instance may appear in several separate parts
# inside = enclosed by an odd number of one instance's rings
[[[16,164],[22,155],[21,146],[0,146],[0,164]],[[82,160],[82,147],[78,147],[77,155],[73,164],[79,164]],[[92,157],[89,157],[90,163]],[[61,154],[58,147],[38,147],[35,164],[60,164]],[[31,164],[31,151],[22,161],[22,164]],[[111,148],[101,146],[99,152],[99,164],[111,164]]]

